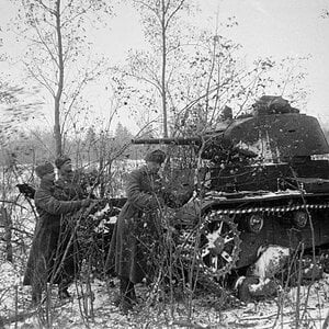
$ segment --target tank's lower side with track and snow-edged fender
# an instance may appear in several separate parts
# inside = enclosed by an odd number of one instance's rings
[[[208,214],[212,215],[208,216]],[[211,219],[206,217],[211,217]],[[296,220],[299,217],[304,220],[303,223]],[[231,263],[226,273],[253,264],[258,259],[260,247],[277,245],[296,250],[298,248],[320,248],[329,243],[328,192],[307,193],[295,190],[243,193],[212,192],[203,200],[191,201],[175,214],[175,218],[178,227],[184,236],[186,236],[184,231],[201,231],[201,236],[204,236],[205,239],[209,239],[208,237],[212,236],[215,241],[216,239],[223,241],[223,236],[226,234],[214,227],[217,228],[223,218],[234,223],[237,230],[226,238],[232,241],[232,237],[237,236],[238,241],[235,240],[236,246],[230,246],[225,252],[228,252],[236,261]],[[249,222],[250,218],[261,220],[261,228],[253,229]],[[208,223],[206,230],[204,230],[205,222]],[[216,237],[214,238],[214,236]],[[223,243],[225,245],[225,242]],[[202,251],[204,249],[202,243],[200,249],[201,254],[205,254]],[[220,252],[215,258],[220,259],[223,257]],[[212,266],[207,259],[204,260],[203,265]],[[216,271],[214,273],[216,274]],[[218,273],[223,275],[222,270]],[[216,276],[215,274],[214,276]]]

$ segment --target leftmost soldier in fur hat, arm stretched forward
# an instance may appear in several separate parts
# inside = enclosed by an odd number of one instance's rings
[[[35,168],[41,179],[35,192],[34,202],[39,218],[37,220],[27,266],[23,280],[24,285],[32,285],[32,302],[41,302],[46,282],[58,284],[59,297],[66,295],[66,283],[63,275],[65,246],[60,240],[61,215],[73,213],[89,206],[92,201],[59,201],[54,197],[55,172],[49,162]]]

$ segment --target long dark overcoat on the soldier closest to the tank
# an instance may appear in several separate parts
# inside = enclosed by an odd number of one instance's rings
[[[151,280],[155,254],[159,249],[161,209],[163,205],[180,207],[193,194],[191,186],[180,191],[164,189],[158,173],[147,166],[134,170],[127,179],[127,202],[116,220],[107,254],[106,266],[111,274],[139,283]]]

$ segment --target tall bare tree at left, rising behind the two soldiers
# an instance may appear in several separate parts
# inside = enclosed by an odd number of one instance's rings
[[[60,155],[72,109],[104,67],[91,58],[87,29],[93,19],[111,13],[111,7],[102,0],[13,1],[21,8],[16,31],[27,39],[25,68],[54,102],[55,154]]]

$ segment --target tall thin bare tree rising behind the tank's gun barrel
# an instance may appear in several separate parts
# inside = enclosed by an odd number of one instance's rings
[[[168,93],[182,46],[182,15],[191,9],[191,1],[133,0],[133,3],[140,13],[145,38],[151,50],[132,52],[127,75],[150,87],[152,100],[149,105],[157,106],[154,98],[159,99],[163,137],[168,137]]]

